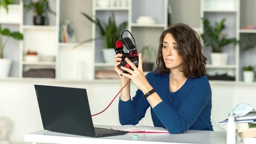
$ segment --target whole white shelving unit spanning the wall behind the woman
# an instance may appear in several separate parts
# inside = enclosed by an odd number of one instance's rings
[[[102,40],[85,43],[79,48],[73,48],[78,43],[59,43],[59,24],[67,20],[65,16],[65,7],[69,0],[49,0],[56,16],[50,16],[49,25],[33,25],[32,12],[23,9],[23,3],[9,6],[9,15],[6,15],[3,9],[0,10],[0,24],[10,27],[12,30],[18,30],[24,34],[23,41],[11,40],[6,45],[5,56],[12,59],[10,77],[23,79],[23,71],[29,67],[49,67],[55,69],[55,78],[53,80],[95,80],[95,72],[100,69],[112,69],[113,63],[106,63],[103,59],[102,49],[104,44]],[[110,0],[112,1],[112,0]],[[226,17],[227,29],[225,32],[230,37],[236,37],[238,40],[242,34],[256,34],[256,30],[241,29],[247,25],[256,25],[253,13],[256,11],[256,2],[254,0],[195,0],[186,1],[185,4],[177,0],[127,0],[127,6],[110,6],[98,7],[97,0],[92,0],[92,16],[98,17],[102,21],[107,21],[111,16],[111,12],[115,14],[116,22],[119,24],[127,21],[127,30],[130,31],[137,44],[137,50],[140,53],[144,45],[151,45],[158,48],[158,39],[163,30],[165,30],[168,20],[168,5],[171,3],[174,23],[189,24],[198,34],[204,32],[201,17],[207,17],[214,23]],[[180,3],[183,3],[182,8]],[[177,5],[175,5],[177,4]],[[192,6],[192,5],[195,6]],[[201,7],[199,7],[201,6]],[[154,7],[154,11],[152,8]],[[194,8],[189,9],[189,8]],[[190,11],[190,12],[187,12]],[[193,13],[193,12],[194,13]],[[253,12],[254,11],[254,12]],[[67,12],[66,12],[67,14]],[[175,17],[175,14],[177,17]],[[139,16],[151,16],[156,20],[155,24],[138,24],[136,19]],[[252,17],[248,18],[247,15]],[[86,19],[86,18],[85,18]],[[125,34],[129,36],[128,33]],[[92,38],[99,37],[98,27],[92,23]],[[54,55],[55,62],[25,62],[24,54],[27,50],[35,50],[39,55]],[[256,65],[254,57],[256,52],[241,52],[239,45],[236,47],[225,48],[225,52],[229,54],[228,65],[213,66],[210,62],[210,49],[205,48],[207,61],[207,71],[221,71],[221,73],[229,73],[236,78],[236,81],[242,80],[242,66]],[[113,50],[114,53],[114,50]],[[155,59],[156,57],[153,57]],[[154,61],[154,60],[153,60]],[[78,66],[83,65],[84,78],[78,78],[76,75]],[[146,72],[147,73],[147,72]],[[38,80],[38,79],[37,79]]]

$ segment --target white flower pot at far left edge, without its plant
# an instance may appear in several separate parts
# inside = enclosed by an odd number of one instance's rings
[[[11,63],[11,59],[0,59],[0,78],[6,78],[9,76]]]

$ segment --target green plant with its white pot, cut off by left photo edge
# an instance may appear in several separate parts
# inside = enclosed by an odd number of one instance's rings
[[[5,40],[3,40],[3,36],[6,37]],[[23,34],[20,32],[11,32],[9,28],[2,29],[0,25],[0,78],[7,77],[11,67],[11,59],[4,58],[3,56],[5,45],[10,37],[14,38],[15,40],[23,40]]]

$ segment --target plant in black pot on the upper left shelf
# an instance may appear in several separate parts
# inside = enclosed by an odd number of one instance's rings
[[[23,5],[27,10],[30,9],[34,12],[33,23],[34,25],[49,25],[48,13],[56,15],[55,11],[52,11],[48,0],[23,0]],[[47,19],[47,20],[46,20]]]

